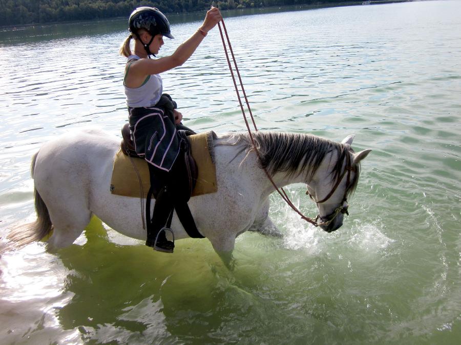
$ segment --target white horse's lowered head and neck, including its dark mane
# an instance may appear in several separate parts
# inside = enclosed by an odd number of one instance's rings
[[[258,165],[265,170],[282,198],[303,219],[330,233],[343,225],[344,214],[348,214],[347,197],[359,180],[360,162],[371,152],[355,153],[351,148],[354,136],[349,135],[341,143],[335,143],[311,134],[258,131],[252,138],[247,134],[240,135],[236,143],[240,140],[246,143],[246,156],[256,146]],[[315,220],[302,215],[285,191],[279,190],[272,180],[277,173],[280,185],[306,183],[306,194],[317,203],[319,210]]]

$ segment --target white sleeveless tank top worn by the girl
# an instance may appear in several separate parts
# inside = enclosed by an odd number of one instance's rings
[[[139,60],[137,55],[130,55],[128,61]],[[127,78],[128,70],[125,72]],[[125,95],[127,96],[127,105],[131,108],[152,107],[160,100],[163,91],[162,78],[159,74],[152,74],[148,76],[144,83],[139,87],[127,87],[125,85],[125,78],[123,78],[123,86],[125,88]]]

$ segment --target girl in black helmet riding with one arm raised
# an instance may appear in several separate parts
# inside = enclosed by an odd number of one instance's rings
[[[136,153],[149,163],[151,186],[156,202],[152,222],[148,222],[146,245],[164,252],[173,252],[174,243],[168,241],[164,227],[169,227],[178,185],[183,177],[183,159],[180,154],[176,126],[182,114],[170,96],[162,95],[160,73],[182,65],[195,52],[209,30],[222,19],[215,7],[206,12],[203,24],[185,40],[171,56],[151,59],[163,45],[163,37],[173,38],[170,23],[158,9],[139,7],[129,19],[131,34],[120,47],[127,57],[123,85],[127,96],[129,125]],[[130,42],[134,39],[134,52]],[[150,210],[146,210],[150,213]],[[149,220],[149,219],[148,219]],[[155,221],[154,221],[155,220]]]

